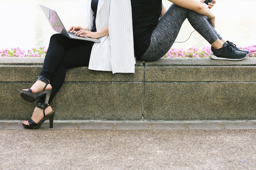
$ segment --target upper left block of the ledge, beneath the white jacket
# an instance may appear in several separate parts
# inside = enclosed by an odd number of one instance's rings
[[[35,82],[43,61],[44,57],[1,57],[0,81]],[[136,62],[135,73],[112,74],[111,71],[88,70],[88,67],[71,68],[67,70],[65,81],[143,81],[143,64],[141,61]]]

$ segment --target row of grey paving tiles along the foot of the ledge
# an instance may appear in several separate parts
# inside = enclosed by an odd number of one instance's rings
[[[0,121],[0,129],[27,130],[22,121]],[[241,130],[256,129],[256,120],[247,121],[49,121],[42,124],[42,130]]]

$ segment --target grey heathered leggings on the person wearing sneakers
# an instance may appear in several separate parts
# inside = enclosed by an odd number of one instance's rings
[[[188,19],[191,26],[201,34],[210,44],[222,37],[213,28],[204,15],[172,4],[167,12],[159,19],[151,35],[151,43],[140,58],[141,61],[156,61],[164,56],[173,45],[182,23]]]

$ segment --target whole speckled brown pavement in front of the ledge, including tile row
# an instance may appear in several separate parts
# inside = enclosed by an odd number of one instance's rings
[[[251,121],[0,121],[0,169],[255,169]]]

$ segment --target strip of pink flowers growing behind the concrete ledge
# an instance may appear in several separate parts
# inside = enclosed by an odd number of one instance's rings
[[[256,45],[251,45],[248,47],[239,47],[239,49],[250,51],[247,57],[256,57]],[[32,48],[32,50],[21,50],[19,47],[9,49],[3,49],[0,51],[0,56],[2,57],[41,57],[45,56],[47,49],[43,46],[39,49]],[[199,57],[209,57],[211,52],[211,46],[204,46],[202,50],[199,48],[192,47],[188,50],[171,48],[165,56],[162,58],[199,58]]]

